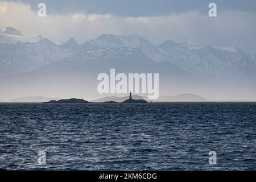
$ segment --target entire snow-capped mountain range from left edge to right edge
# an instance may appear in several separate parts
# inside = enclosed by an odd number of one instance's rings
[[[21,32],[11,27],[1,30],[0,36],[2,35],[24,37]],[[63,44],[55,44],[48,39],[41,39],[36,43],[21,41],[15,44],[0,44],[0,69],[5,69],[0,76],[30,71],[54,61],[65,60],[69,56],[72,58],[72,56],[84,55],[88,59],[90,57],[93,59],[97,55],[113,56],[116,51],[113,48],[138,49],[154,61],[172,63],[186,72],[199,76],[214,78],[234,76],[255,78],[256,76],[255,55],[250,55],[236,47],[224,45],[198,47],[172,40],[156,46],[135,34],[122,36],[102,34],[84,44],[78,44],[73,38]]]

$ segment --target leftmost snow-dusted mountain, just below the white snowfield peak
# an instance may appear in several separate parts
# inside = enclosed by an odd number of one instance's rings
[[[0,76],[31,71],[72,53],[72,49],[58,46],[48,39],[37,43],[0,44]]]

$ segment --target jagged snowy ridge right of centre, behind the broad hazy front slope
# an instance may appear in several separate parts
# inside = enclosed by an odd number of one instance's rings
[[[171,40],[155,46],[138,35],[103,34],[86,44],[98,47],[131,47],[159,62],[170,62],[185,71],[206,76],[256,76],[251,55],[232,46],[198,47]]]

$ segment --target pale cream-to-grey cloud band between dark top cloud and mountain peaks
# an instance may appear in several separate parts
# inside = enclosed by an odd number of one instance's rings
[[[0,27],[11,26],[23,35],[42,35],[54,42],[73,37],[83,43],[101,34],[138,34],[155,44],[170,39],[197,46],[226,44],[256,52],[256,14],[251,11],[226,10],[214,18],[198,11],[136,17],[80,11],[40,18],[26,3],[2,1],[0,7]]]

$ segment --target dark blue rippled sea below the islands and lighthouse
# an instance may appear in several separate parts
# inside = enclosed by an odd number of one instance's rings
[[[1,169],[256,169],[256,103],[0,104],[0,134]]]

